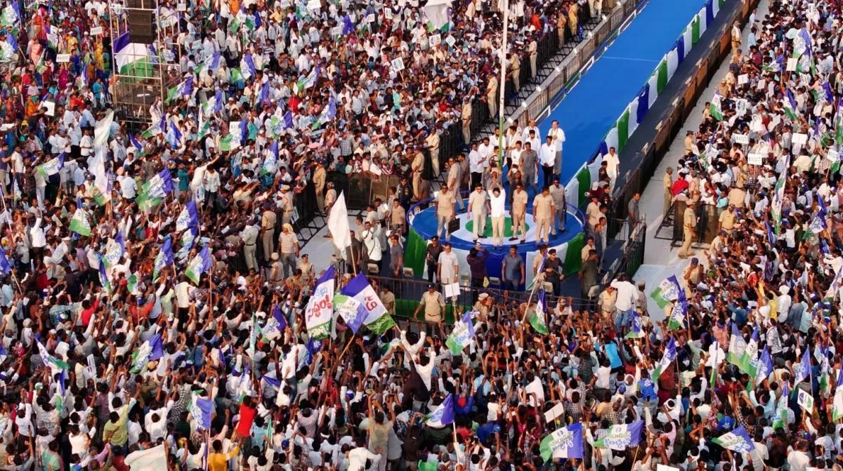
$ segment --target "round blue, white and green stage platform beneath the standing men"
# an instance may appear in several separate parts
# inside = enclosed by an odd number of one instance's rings
[[[427,264],[425,263],[425,250],[430,238],[436,235],[437,218],[436,206],[431,204],[432,201],[421,201],[415,206],[412,206],[408,211],[409,216],[407,220],[410,224],[409,234],[405,246],[404,265],[411,267],[413,272],[418,277],[427,277]],[[464,200],[465,205],[468,205],[468,199]],[[457,207],[459,211],[459,206]],[[566,222],[566,231],[551,235],[548,246],[551,249],[556,249],[556,255],[565,264],[566,273],[570,274],[579,270],[581,261],[580,253],[585,245],[585,236],[583,231],[583,213],[577,208],[568,206],[568,217]],[[509,247],[515,246],[518,249],[518,254],[521,254],[522,259],[526,263],[524,267],[525,283],[521,286],[529,285],[533,279],[533,260],[539,254],[539,242],[536,241],[536,223],[533,219],[532,206],[527,208],[527,215],[525,222],[527,226],[526,240],[521,242],[518,238],[514,241],[509,240],[512,237],[512,220],[508,214],[504,227],[505,238],[501,243],[501,248],[498,249],[492,244],[491,238],[491,218],[486,218],[486,230],[480,234],[479,242],[483,244],[484,249],[489,251],[489,258],[486,259],[486,276],[489,278],[501,279],[501,264],[503,257],[509,253]],[[459,259],[459,273],[460,275],[469,273],[469,265],[466,262],[466,257],[470,249],[475,246],[474,241],[474,221],[468,217],[465,211],[459,212],[456,217],[459,222],[459,229],[451,233],[449,242],[452,250],[457,254]],[[485,236],[485,237],[483,237]],[[444,229],[439,233],[439,241],[444,243]]]

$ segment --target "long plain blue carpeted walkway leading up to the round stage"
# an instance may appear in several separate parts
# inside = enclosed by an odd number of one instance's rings
[[[561,182],[572,179],[597,151],[626,105],[704,4],[705,0],[650,0],[571,93],[541,121],[542,136],[547,136],[553,120],[565,131]]]

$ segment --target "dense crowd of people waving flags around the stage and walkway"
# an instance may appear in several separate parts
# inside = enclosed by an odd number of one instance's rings
[[[314,266],[297,201],[315,191],[329,213],[329,170],[400,175],[331,234],[373,262],[389,253],[397,275],[438,133],[461,126],[444,188],[549,187],[540,237],[564,230],[564,132],[505,130],[507,175],[496,142],[470,143],[472,101],[498,112],[497,4],[454,3],[438,24],[411,3],[167,4],[185,76],[141,132],[110,109],[109,15],[125,12],[4,5],[0,468],[840,471],[841,15],[769,4],[748,43],[736,26],[730,72],[664,178],[666,213],[688,208],[690,265],[652,293],[621,275],[588,311],[478,292],[454,325],[437,285],[419,320],[396,323],[362,257],[339,265],[350,273]],[[541,35],[572,40],[614,3],[510,6],[518,88]],[[617,176],[605,161],[584,293]],[[718,234],[694,254],[703,211]]]

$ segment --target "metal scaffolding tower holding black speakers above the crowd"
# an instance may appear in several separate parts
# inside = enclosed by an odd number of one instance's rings
[[[181,8],[158,0],[116,0],[109,8],[115,111],[130,126],[149,125],[153,104],[163,103],[167,90],[182,81]]]

